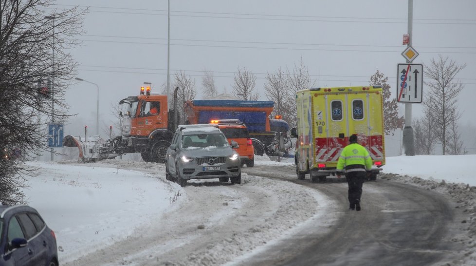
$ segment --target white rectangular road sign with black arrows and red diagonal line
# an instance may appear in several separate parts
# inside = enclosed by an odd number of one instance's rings
[[[421,103],[423,99],[423,65],[398,64],[397,101]]]

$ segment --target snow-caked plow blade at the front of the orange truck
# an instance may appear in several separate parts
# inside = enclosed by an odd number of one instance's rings
[[[78,163],[96,162],[98,160],[110,159],[118,154],[101,153],[104,149],[104,140],[99,136],[88,136],[84,141],[80,136],[67,135],[63,138],[63,146],[78,148]]]

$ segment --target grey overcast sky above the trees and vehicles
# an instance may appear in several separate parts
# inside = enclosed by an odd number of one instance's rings
[[[137,95],[143,82],[154,92],[166,82],[167,0],[58,0],[59,8],[79,4],[83,46],[71,53],[78,77],[99,86],[101,135],[114,120],[111,104]],[[266,73],[292,69],[303,58],[315,86],[368,85],[376,70],[396,92],[397,64],[405,63],[407,0],[171,0],[170,70],[195,78],[201,98],[203,70],[212,72],[220,93],[230,93],[234,73],[246,67],[256,77],[260,100],[267,100]],[[413,63],[439,55],[467,64],[457,78],[461,123],[476,125],[476,1],[414,0]],[[172,78],[171,78],[172,79]],[[396,93],[395,93],[396,94]],[[95,132],[96,87],[79,82],[69,89],[70,113],[78,113],[67,134]],[[403,114],[403,104],[402,114]],[[421,114],[413,105],[413,118]]]

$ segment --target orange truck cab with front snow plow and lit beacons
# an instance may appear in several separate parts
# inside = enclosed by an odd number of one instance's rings
[[[176,106],[177,90],[174,92]],[[79,160],[95,162],[101,159],[113,158],[124,153],[141,153],[146,162],[165,162],[165,153],[173,134],[178,126],[178,116],[175,107],[168,110],[167,96],[150,93],[150,85],[141,87],[140,95],[129,96],[119,101],[126,111],[119,113],[121,118],[121,134],[108,140],[99,136],[68,135],[63,138],[66,147],[79,149]]]

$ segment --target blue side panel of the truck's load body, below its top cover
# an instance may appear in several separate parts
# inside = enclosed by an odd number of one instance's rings
[[[250,133],[266,132],[266,112],[200,111],[198,123],[210,123],[212,119],[239,119]]]

